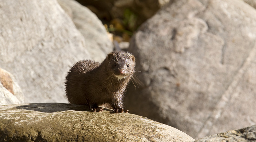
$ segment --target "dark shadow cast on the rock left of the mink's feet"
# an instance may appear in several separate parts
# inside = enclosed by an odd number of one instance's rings
[[[24,104],[15,107],[17,109],[26,109],[40,111],[44,113],[55,113],[59,111],[75,110],[75,111],[90,111],[86,105],[64,104],[64,103],[32,103]]]

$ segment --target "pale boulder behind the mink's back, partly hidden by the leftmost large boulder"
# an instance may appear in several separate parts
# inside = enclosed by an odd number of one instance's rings
[[[114,48],[102,22],[93,12],[75,0],[57,1],[84,36],[89,47],[86,49],[92,59],[101,62]]]

